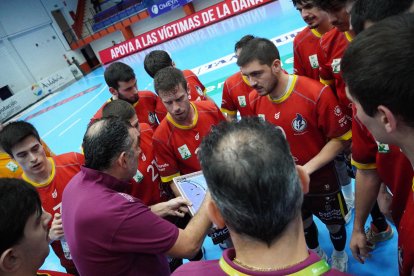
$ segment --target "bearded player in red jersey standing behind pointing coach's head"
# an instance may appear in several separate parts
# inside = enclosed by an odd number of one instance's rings
[[[152,129],[157,128],[155,109],[158,96],[151,91],[138,90],[137,79],[130,66],[122,62],[114,62],[106,68],[104,77],[109,92],[112,94],[108,102],[116,99],[129,102],[134,107],[140,122],[149,124]],[[102,105],[91,120],[102,117],[102,109],[107,103]]]

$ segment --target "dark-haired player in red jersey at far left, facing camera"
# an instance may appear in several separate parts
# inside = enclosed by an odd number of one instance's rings
[[[29,123],[18,121],[4,127],[1,146],[22,168],[22,178],[36,187],[43,209],[53,215],[49,237],[52,248],[67,272],[77,274],[64,240],[61,219],[62,194],[67,183],[80,171],[83,155],[75,152],[46,157],[39,134]]]

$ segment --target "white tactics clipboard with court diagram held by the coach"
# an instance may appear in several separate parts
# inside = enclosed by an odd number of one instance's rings
[[[186,175],[180,175],[173,178],[174,185],[180,192],[181,196],[189,200],[193,205],[189,206],[192,216],[197,213],[203,203],[208,187],[203,172],[198,171]]]

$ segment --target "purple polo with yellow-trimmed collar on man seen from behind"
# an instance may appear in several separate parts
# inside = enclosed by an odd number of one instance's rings
[[[174,271],[173,275],[181,276],[181,275],[234,275],[234,276],[241,276],[241,275],[254,275],[254,276],[282,276],[282,275],[289,275],[294,274],[297,272],[302,272],[302,275],[348,275],[343,272],[339,272],[335,269],[330,269],[329,265],[325,263],[318,263],[321,259],[318,255],[314,252],[309,251],[309,257],[297,264],[293,267],[289,267],[283,270],[277,271],[251,271],[244,269],[235,263],[233,263],[233,259],[236,257],[236,251],[234,248],[226,249],[223,252],[223,256],[220,260],[214,261],[199,261],[199,262],[189,262],[182,266],[180,266],[176,271]],[[310,268],[314,265],[312,268]],[[309,270],[306,270],[309,268]],[[316,270],[315,270],[316,268]],[[325,269],[324,269],[325,268]],[[324,274],[312,272],[322,272],[327,270]]]

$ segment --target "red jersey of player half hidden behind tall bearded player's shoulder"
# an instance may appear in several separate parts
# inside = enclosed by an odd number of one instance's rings
[[[249,94],[252,90],[241,72],[228,77],[223,85],[221,111],[230,115],[236,115],[239,111],[242,117],[254,115],[249,103]]]

